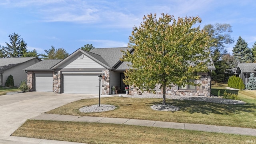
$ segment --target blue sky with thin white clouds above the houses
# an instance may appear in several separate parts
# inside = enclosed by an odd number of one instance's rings
[[[256,42],[255,0],[0,0],[0,44],[18,33],[28,50],[64,48],[69,54],[85,44],[96,48],[126,47],[132,27],[146,14],[202,18],[206,24],[232,26],[234,44],[241,36],[251,48]]]

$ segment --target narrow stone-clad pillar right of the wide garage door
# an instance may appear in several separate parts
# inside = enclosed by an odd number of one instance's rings
[[[110,94],[110,71],[103,70],[102,71],[102,94]]]

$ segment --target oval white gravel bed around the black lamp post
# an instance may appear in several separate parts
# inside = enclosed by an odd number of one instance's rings
[[[109,105],[109,104],[101,104],[100,106],[98,104],[92,105],[92,106],[84,106],[79,109],[80,112],[106,112],[110,110],[114,110],[116,106]]]

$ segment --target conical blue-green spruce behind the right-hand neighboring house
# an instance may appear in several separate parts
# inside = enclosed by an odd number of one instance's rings
[[[236,41],[236,45],[233,47],[232,52],[236,64],[253,62],[252,50],[248,48],[248,43],[242,39],[241,36],[239,36]]]

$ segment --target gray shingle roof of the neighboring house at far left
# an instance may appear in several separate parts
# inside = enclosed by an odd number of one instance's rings
[[[25,57],[25,58],[0,58],[0,72],[12,68],[18,64],[22,64],[29,60],[32,60],[37,57]]]

